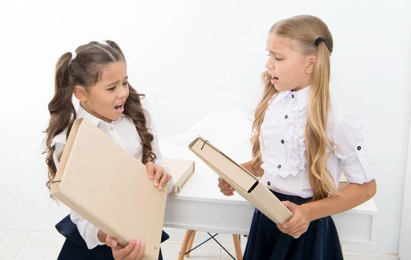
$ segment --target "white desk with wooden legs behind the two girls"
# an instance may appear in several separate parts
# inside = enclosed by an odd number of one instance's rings
[[[179,147],[181,148],[181,147]],[[171,152],[173,150],[170,147]],[[172,156],[166,152],[167,156]],[[210,233],[248,235],[254,207],[244,198],[223,196],[217,186],[217,174],[188,153],[175,158],[195,159],[196,172],[178,196],[167,199],[164,226]],[[374,245],[377,206],[374,200],[332,216],[342,244]]]

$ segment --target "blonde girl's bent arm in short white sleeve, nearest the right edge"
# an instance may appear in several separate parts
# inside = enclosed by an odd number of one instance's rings
[[[283,202],[294,216],[288,222],[277,225],[280,231],[298,237],[307,231],[311,221],[353,209],[375,195],[377,185],[362,128],[358,117],[347,113],[340,117],[332,134],[336,147],[333,155],[340,162],[350,184],[341,189],[340,194],[316,202],[301,206]]]

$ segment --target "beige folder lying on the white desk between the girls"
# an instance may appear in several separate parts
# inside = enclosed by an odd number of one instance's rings
[[[174,185],[170,194],[178,195],[195,171],[195,162],[179,158],[164,158],[164,163],[170,168]]]

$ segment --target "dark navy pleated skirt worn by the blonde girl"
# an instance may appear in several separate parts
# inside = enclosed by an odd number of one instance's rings
[[[272,191],[281,201],[301,205],[311,198]],[[295,239],[282,233],[263,213],[254,212],[244,260],[343,260],[340,239],[332,217],[314,220],[306,233]]]

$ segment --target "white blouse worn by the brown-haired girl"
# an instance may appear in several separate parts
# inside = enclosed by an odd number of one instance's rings
[[[145,102],[144,99],[142,100],[142,106],[143,108],[145,108],[145,110],[148,110],[148,104],[147,102]],[[125,117],[125,115],[122,115],[121,118],[117,121],[107,123],[87,113],[86,110],[82,108],[82,106],[78,106],[78,108],[76,109],[76,119],[82,117],[88,119],[88,121],[90,121],[92,124],[100,128],[103,132],[105,132],[105,134],[108,134],[108,136],[111,137],[114,141],[116,141],[116,143],[119,143],[119,145],[121,145],[121,147],[127,150],[127,152],[132,154],[134,157],[138,158],[138,160],[142,161],[142,141],[140,139],[140,136],[138,135],[136,126],[134,126],[134,123],[132,123],[132,121]],[[155,124],[153,123],[153,120],[150,120],[148,130],[149,132],[151,132],[151,134],[154,135],[154,139],[151,145],[153,153],[156,156],[155,164],[160,165],[161,167],[166,169],[167,172],[170,173],[170,169],[166,167],[166,165],[164,164],[164,158],[160,152],[157,132],[155,130]],[[51,146],[55,145],[53,158],[56,167],[58,167],[59,165],[57,156],[64,150],[65,143],[66,131],[55,136],[53,138],[53,141],[51,142]],[[171,189],[173,189],[173,178],[171,178],[171,180],[169,181],[168,193],[171,192]],[[85,220],[79,214],[75,213],[73,210],[70,211],[70,217],[73,223],[77,225],[79,233],[80,235],[82,235],[84,241],[86,241],[87,247],[89,249],[95,248],[98,245],[105,244],[101,243],[101,241],[99,241],[97,237],[99,228],[92,225],[90,222]]]

